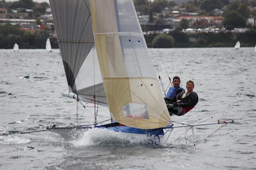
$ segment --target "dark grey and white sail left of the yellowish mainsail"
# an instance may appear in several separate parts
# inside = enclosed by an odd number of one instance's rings
[[[50,0],[70,92],[107,103],[92,31],[90,0]]]

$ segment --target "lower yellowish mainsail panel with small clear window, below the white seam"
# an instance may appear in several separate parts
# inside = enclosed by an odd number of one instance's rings
[[[156,129],[171,123],[156,78],[104,77],[103,84],[115,121],[141,129]]]

